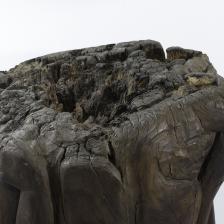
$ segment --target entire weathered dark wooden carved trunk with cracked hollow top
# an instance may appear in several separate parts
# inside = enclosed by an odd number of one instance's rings
[[[224,84],[147,40],[0,72],[1,224],[214,224]]]

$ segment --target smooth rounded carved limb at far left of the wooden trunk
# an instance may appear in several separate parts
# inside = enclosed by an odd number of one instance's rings
[[[16,187],[0,186],[0,223],[53,224],[45,167],[40,172],[20,149],[2,152],[0,165],[3,180]]]

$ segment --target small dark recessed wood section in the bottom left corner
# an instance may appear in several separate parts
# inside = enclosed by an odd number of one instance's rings
[[[15,224],[20,191],[0,180],[0,223]]]

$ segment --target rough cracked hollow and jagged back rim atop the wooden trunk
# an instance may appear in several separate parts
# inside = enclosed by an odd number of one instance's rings
[[[166,59],[151,40],[46,55],[0,76],[2,91],[32,87],[45,106],[100,124],[217,83],[205,54],[173,47]]]

